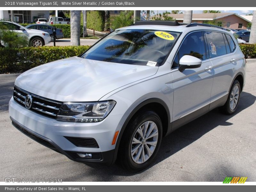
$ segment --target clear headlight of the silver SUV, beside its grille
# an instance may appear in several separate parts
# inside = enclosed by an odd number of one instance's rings
[[[116,101],[99,101],[88,103],[66,102],[60,106],[56,117],[58,121],[99,122],[114,108]]]

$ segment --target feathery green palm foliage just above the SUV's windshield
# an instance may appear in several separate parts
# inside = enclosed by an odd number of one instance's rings
[[[110,16],[110,28],[117,29],[133,24],[133,11],[121,11],[119,15]]]

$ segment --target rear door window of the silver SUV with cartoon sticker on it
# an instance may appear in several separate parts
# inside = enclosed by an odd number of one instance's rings
[[[222,33],[206,31],[205,36],[207,39],[210,58],[227,54],[226,45]]]

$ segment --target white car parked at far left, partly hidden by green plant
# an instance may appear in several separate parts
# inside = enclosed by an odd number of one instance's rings
[[[4,21],[4,24],[10,25],[8,28],[28,36],[30,46],[39,47],[51,43],[51,37],[47,32],[36,29],[27,29],[22,25],[11,21]]]

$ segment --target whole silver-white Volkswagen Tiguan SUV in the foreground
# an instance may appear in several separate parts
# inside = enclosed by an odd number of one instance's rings
[[[234,113],[245,66],[226,30],[136,22],[77,57],[21,74],[9,113],[21,132],[74,161],[118,158],[135,172],[178,127],[216,107]]]

